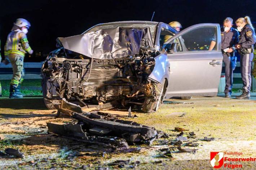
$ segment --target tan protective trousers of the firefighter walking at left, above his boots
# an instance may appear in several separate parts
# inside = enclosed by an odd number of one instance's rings
[[[8,55],[8,58],[13,68],[13,78],[10,84],[18,87],[19,83],[22,83],[25,75],[25,70],[23,69],[24,56],[11,53]]]

